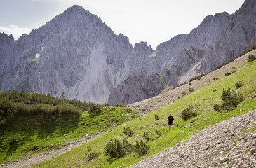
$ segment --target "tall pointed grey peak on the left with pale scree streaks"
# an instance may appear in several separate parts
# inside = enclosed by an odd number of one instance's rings
[[[140,62],[153,52],[151,46],[138,43],[133,48],[126,36],[114,34],[81,6],[68,8],[17,41],[5,34],[0,39],[1,91],[24,87],[102,103],[133,72],[152,70]]]

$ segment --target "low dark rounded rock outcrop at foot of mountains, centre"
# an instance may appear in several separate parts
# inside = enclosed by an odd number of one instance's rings
[[[109,95],[109,105],[130,104],[160,94],[164,88],[157,73],[133,73]]]

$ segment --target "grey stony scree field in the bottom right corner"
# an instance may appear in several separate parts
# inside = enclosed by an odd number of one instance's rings
[[[256,167],[256,110],[230,118],[131,167]]]

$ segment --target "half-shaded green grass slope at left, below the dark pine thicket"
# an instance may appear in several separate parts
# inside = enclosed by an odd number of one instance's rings
[[[128,108],[103,108],[100,115],[88,112],[81,116],[65,114],[46,118],[39,115],[21,115],[8,118],[0,127],[0,162],[18,159],[24,154],[42,153],[62,147],[65,141],[80,139],[85,134],[94,135],[112,129],[113,125],[135,116]],[[63,137],[67,134],[67,137]],[[59,144],[60,143],[60,144]],[[50,148],[53,144],[53,148]],[[39,145],[34,149],[34,146]],[[12,155],[13,154],[13,155]]]

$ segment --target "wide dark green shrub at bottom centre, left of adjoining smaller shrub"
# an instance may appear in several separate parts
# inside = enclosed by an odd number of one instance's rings
[[[120,158],[126,153],[130,153],[134,150],[133,144],[128,143],[128,141],[123,140],[123,143],[119,140],[112,140],[107,142],[105,147],[105,155],[110,158]]]

